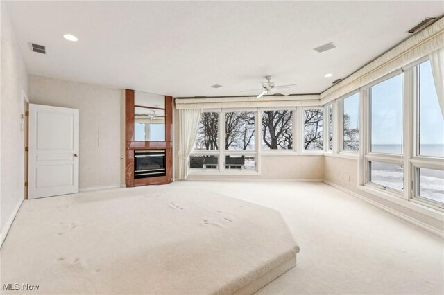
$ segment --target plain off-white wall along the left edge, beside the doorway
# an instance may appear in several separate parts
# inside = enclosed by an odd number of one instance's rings
[[[24,195],[22,119],[28,74],[3,1],[1,10],[0,244]]]

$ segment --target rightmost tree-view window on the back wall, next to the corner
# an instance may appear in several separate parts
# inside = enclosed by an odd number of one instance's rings
[[[304,110],[304,150],[323,150],[323,110]]]

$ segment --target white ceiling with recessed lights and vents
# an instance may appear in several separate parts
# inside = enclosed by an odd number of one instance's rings
[[[264,75],[320,93],[444,15],[443,1],[6,4],[28,73],[176,97],[245,95]],[[327,42],[337,48],[312,50]]]

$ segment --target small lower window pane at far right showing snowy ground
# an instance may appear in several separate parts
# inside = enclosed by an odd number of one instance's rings
[[[418,168],[418,196],[444,203],[444,170]]]

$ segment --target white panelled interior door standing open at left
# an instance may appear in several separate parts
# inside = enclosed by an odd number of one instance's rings
[[[29,199],[78,193],[78,134],[78,109],[29,105]]]

